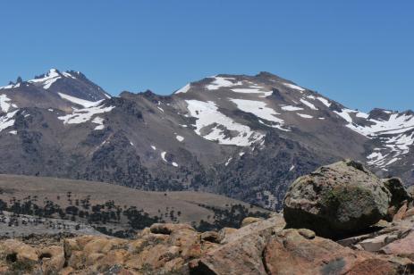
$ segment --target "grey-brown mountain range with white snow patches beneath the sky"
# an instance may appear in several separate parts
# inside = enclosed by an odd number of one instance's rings
[[[197,189],[278,208],[286,187],[342,158],[414,183],[414,113],[351,110],[267,72],[171,96],[109,96],[80,72],[0,87],[2,173]]]

